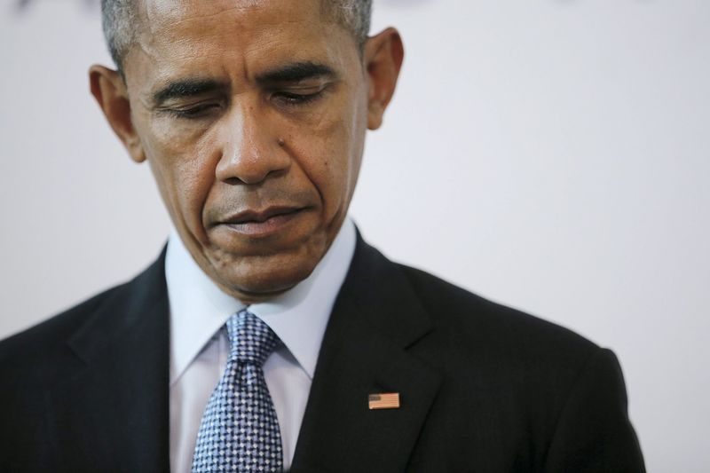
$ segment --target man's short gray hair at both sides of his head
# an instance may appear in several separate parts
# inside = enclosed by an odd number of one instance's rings
[[[123,59],[136,39],[138,0],[101,0],[101,21],[111,57],[122,72]],[[334,15],[351,32],[360,49],[367,41],[372,0],[321,0],[324,10]]]

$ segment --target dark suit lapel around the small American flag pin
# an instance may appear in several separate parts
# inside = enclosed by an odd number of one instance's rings
[[[359,239],[319,353],[292,471],[402,471],[440,375],[407,348],[431,330],[406,276]],[[398,409],[369,394],[398,392]]]

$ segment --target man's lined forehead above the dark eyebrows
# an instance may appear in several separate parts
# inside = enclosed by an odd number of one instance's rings
[[[317,60],[337,68],[357,50],[351,35],[323,12],[321,0],[144,0],[141,28],[126,57],[139,76],[255,73],[267,63]],[[135,57],[141,60],[135,61]],[[146,60],[147,59],[147,60]]]

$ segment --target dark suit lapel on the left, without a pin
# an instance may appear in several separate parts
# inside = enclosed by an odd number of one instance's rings
[[[68,345],[75,374],[48,394],[63,470],[169,469],[169,311],[163,255],[107,294]]]

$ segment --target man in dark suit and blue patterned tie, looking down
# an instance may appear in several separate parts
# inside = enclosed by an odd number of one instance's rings
[[[175,231],[0,345],[1,470],[643,471],[611,351],[393,264],[347,219],[403,59],[369,11],[104,1],[118,69],[91,92]]]

